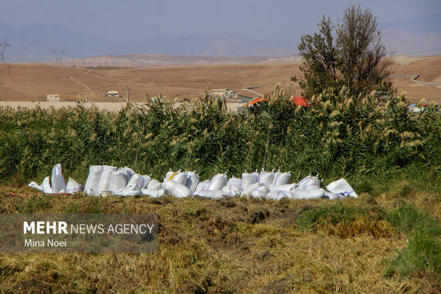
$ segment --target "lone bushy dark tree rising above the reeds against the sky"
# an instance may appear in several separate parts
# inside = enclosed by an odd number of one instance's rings
[[[318,33],[302,36],[299,52],[303,77],[292,77],[299,80],[302,95],[310,98],[343,85],[354,95],[388,90],[391,61],[381,46],[376,21],[371,11],[350,4],[335,32],[331,21],[323,16]]]

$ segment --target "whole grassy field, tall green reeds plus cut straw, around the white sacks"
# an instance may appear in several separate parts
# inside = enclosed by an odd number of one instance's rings
[[[329,89],[296,107],[277,85],[253,111],[209,100],[119,112],[0,107],[1,213],[156,213],[151,254],[4,254],[4,292],[439,293],[441,125],[434,103],[411,115],[405,93]],[[162,179],[281,169],[292,182],[346,178],[342,201],[36,195],[53,164],[84,184],[93,164]],[[31,194],[24,198],[11,195]]]

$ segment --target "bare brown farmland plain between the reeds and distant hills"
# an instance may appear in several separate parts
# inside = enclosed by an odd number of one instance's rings
[[[107,90],[132,88],[131,100],[144,102],[160,93],[167,98],[193,98],[213,88],[230,88],[240,95],[256,98],[257,95],[242,88],[258,87],[257,93],[270,93],[280,82],[289,92],[300,95],[297,84],[290,77],[299,75],[302,63],[256,63],[242,65],[201,65],[163,68],[84,69],[56,67],[36,63],[0,65],[0,100],[46,100],[49,93],[59,93],[62,100],[124,102],[125,98],[106,98]],[[395,58],[394,75],[419,74],[424,82],[441,81],[441,56],[425,58]],[[441,85],[421,85],[412,78],[393,78],[398,90],[405,90],[411,101],[421,98],[441,103]],[[111,100],[110,100],[111,99]]]

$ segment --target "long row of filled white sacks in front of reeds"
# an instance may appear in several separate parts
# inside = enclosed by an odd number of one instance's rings
[[[291,183],[289,172],[252,172],[243,173],[242,178],[228,177],[225,174],[216,174],[211,180],[199,181],[196,172],[167,172],[163,182],[152,179],[150,176],[136,174],[132,169],[123,167],[117,169],[107,165],[90,166],[90,172],[84,187],[85,194],[91,196],[166,196],[178,198],[193,195],[222,198],[223,196],[252,196],[268,199],[344,199],[347,196],[358,197],[351,185],[345,179],[331,182],[322,188],[322,181],[318,177],[308,176],[299,183]],[[49,177],[41,185],[31,182],[34,187],[44,193],[75,194],[83,191],[83,186],[69,178],[65,184],[61,165],[56,164],[52,171],[52,187]]]

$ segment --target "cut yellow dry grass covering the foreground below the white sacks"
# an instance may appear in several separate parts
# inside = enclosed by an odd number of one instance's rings
[[[347,199],[345,207],[392,211],[395,189]],[[308,211],[335,201],[43,196],[21,199],[0,190],[3,213],[159,214],[159,251],[152,254],[1,254],[4,291],[72,293],[437,293],[424,272],[386,278],[388,261],[407,242],[386,220],[366,216],[349,224],[301,226]],[[440,209],[437,195],[435,211]],[[412,200],[400,201],[411,204]],[[373,201],[378,202],[373,204]],[[416,203],[415,203],[416,204]],[[358,210],[357,210],[358,211]],[[362,210],[363,212],[364,210]],[[325,222],[326,223],[326,222]]]

